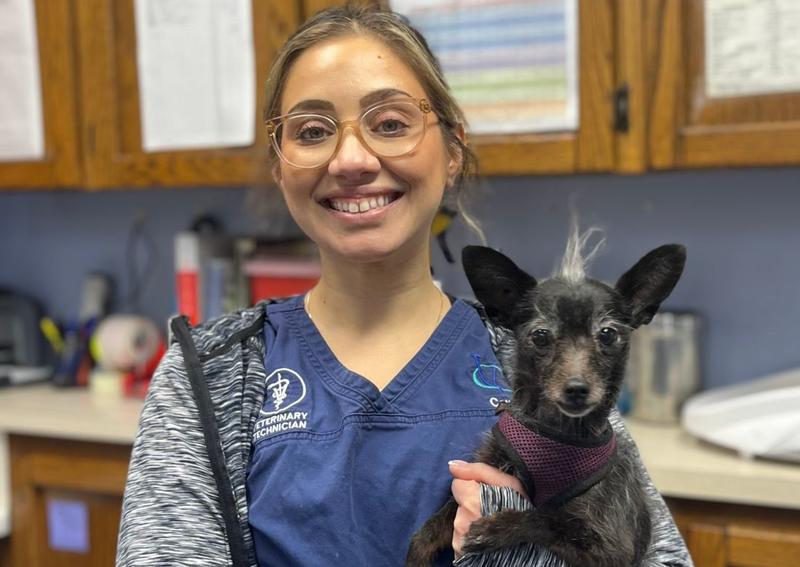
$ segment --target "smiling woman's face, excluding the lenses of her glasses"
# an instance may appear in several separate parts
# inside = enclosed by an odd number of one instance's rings
[[[295,60],[280,112],[357,120],[365,108],[403,97],[427,98],[414,72],[381,41],[353,35],[320,43]],[[427,121],[422,141],[403,156],[376,156],[345,128],[326,165],[276,166],[289,211],[323,254],[356,262],[426,254],[431,222],[460,166],[445,147],[436,115],[429,113]],[[349,212],[352,203],[359,212]]]

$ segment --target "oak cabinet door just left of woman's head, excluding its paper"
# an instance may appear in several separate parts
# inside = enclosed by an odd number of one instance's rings
[[[294,30],[295,1],[253,0],[255,100],[272,58]],[[89,187],[237,185],[262,181],[266,137],[256,111],[249,147],[146,152],[142,147],[133,0],[76,2],[83,143]]]

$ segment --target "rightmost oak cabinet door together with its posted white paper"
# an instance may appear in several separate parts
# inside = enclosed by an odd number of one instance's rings
[[[741,4],[741,3],[740,3]],[[790,6],[791,5],[791,6]],[[787,76],[796,56],[787,55],[797,46],[789,37],[797,34],[800,12],[794,3],[784,3],[793,9],[793,30],[787,26],[781,32],[777,3],[728,3],[730,12],[715,11],[710,17],[709,4],[704,0],[645,0],[640,6],[640,53],[645,73],[640,85],[648,100],[647,135],[650,166],[655,169],[788,165],[800,163],[800,88],[795,92],[765,92],[765,81]],[[719,6],[719,4],[717,4]],[[736,14],[735,10],[763,9],[769,38],[774,44],[784,42],[783,49],[755,48],[763,36],[742,29],[748,25],[750,12]],[[775,12],[770,10],[775,9]],[[714,45],[709,47],[705,37],[705,19],[714,26]],[[738,18],[738,20],[737,20]],[[788,23],[788,22],[787,22]],[[774,29],[771,29],[774,28]],[[762,33],[762,32],[759,32]],[[749,34],[749,35],[748,35]],[[751,43],[748,45],[747,41]],[[762,41],[762,43],[763,43]],[[722,42],[725,42],[723,44]],[[796,42],[795,42],[796,43]],[[708,52],[707,52],[708,51]],[[769,51],[776,60],[772,77],[763,76],[753,54]],[[706,68],[707,56],[713,61]],[[787,62],[790,62],[787,66]],[[723,69],[727,71],[722,72]],[[781,71],[783,69],[783,71]],[[795,69],[800,69],[795,67]],[[740,70],[736,89],[720,88],[721,76],[735,76]],[[797,84],[797,71],[794,80]],[[791,79],[791,72],[788,74]],[[716,87],[714,85],[717,85]],[[759,85],[761,85],[759,87]],[[789,85],[790,86],[790,85]],[[748,88],[749,87],[749,88]],[[770,87],[766,87],[769,90]],[[710,92],[717,96],[710,96]]]

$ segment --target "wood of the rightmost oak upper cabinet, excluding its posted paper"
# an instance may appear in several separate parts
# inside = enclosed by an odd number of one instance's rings
[[[800,164],[800,89],[709,96],[704,0],[622,4],[627,10],[620,16],[629,21],[623,30],[629,42],[627,69],[636,75],[638,107],[632,120],[640,132],[635,143],[647,148],[642,168]],[[761,8],[777,10],[766,4]],[[746,76],[742,70],[742,81]]]

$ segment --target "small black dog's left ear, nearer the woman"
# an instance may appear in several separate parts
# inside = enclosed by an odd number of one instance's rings
[[[507,256],[485,246],[466,246],[461,251],[461,262],[489,319],[512,328],[518,315],[517,304],[525,292],[536,286],[536,280]]]

